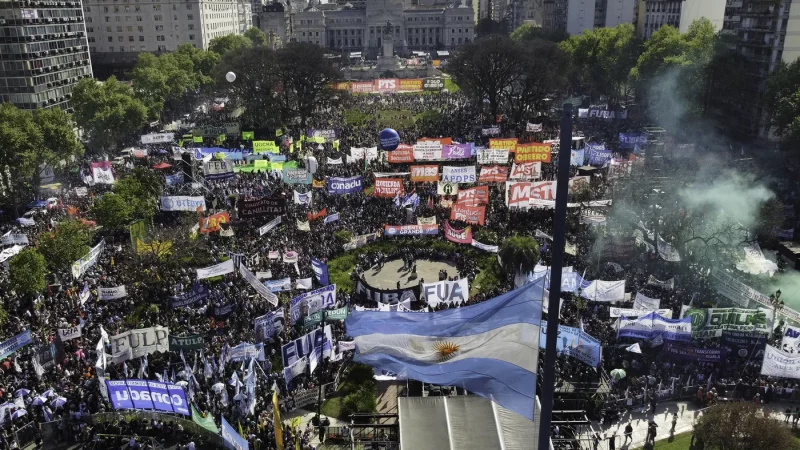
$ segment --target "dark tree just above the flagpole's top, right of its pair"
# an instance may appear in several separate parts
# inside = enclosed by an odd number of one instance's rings
[[[553,42],[536,39],[520,43],[521,76],[502,92],[503,103],[512,124],[525,130],[523,117],[535,111],[546,111],[548,97],[566,94],[569,80],[569,56]]]

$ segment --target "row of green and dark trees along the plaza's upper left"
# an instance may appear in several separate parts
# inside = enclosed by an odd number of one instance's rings
[[[233,72],[229,83],[225,74]],[[201,103],[227,98],[224,114],[240,114],[242,126],[274,131],[305,124],[315,107],[332,97],[329,85],[338,70],[324,50],[310,44],[267,47],[263,31],[213,39],[208,50],[190,44],[174,52],[142,53],[130,84],[111,77],[103,83],[81,80],[73,90],[75,123],[92,151],[132,142],[148,122],[167,122]]]

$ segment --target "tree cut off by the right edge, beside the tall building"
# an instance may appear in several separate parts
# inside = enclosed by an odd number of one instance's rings
[[[767,80],[764,105],[779,136],[790,142],[800,139],[800,59],[778,63]]]

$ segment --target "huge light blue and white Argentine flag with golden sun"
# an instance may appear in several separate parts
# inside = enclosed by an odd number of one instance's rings
[[[398,378],[462,387],[533,420],[541,317],[541,290],[531,283],[433,313],[355,311],[345,326],[355,361]]]

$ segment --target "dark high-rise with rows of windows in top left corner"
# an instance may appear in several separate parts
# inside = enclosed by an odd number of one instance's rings
[[[69,110],[73,86],[91,76],[80,0],[0,1],[0,102]]]

